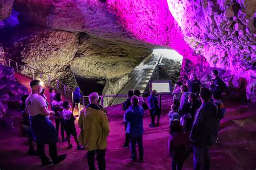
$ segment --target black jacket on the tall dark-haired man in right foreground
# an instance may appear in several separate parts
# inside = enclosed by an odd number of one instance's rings
[[[202,104],[196,113],[190,140],[193,146],[211,146],[218,134],[217,106],[212,103]]]

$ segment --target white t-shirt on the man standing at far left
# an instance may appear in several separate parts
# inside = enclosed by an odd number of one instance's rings
[[[26,99],[26,108],[31,116],[42,114],[40,107],[46,107],[46,102],[42,96],[38,94],[30,94]],[[43,114],[42,114],[43,115]]]

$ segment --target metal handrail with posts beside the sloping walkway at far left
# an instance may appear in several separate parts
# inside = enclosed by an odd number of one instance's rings
[[[9,66],[9,67],[12,66],[12,65],[11,65],[11,62],[14,62],[14,63],[15,63],[15,66],[16,66],[16,72],[17,72],[17,73],[19,72],[18,65],[23,66],[23,67],[24,67],[24,70],[23,70],[23,71],[26,72],[26,73],[28,73],[28,74],[31,74],[31,73],[30,73],[30,72],[27,72],[26,69],[31,69],[31,70],[32,70],[32,77],[31,77],[31,78],[32,78],[33,80],[35,80],[35,71],[39,72],[39,78],[40,78],[40,79],[43,79],[43,74],[46,75],[46,76],[48,76],[48,83],[49,83],[48,86],[51,87],[51,80],[56,81],[57,91],[59,91],[59,85],[62,85],[62,86],[63,86],[63,94],[64,94],[65,98],[68,98],[70,101],[72,101],[72,99],[73,99],[73,97],[72,97],[72,96],[73,96],[73,91],[72,91],[68,86],[66,86],[64,83],[60,82],[58,79],[56,79],[56,78],[50,76],[50,75],[47,74],[47,73],[44,73],[44,72],[41,71],[41,70],[35,69],[35,68],[33,68],[33,67],[27,65],[26,63],[19,63],[19,62],[16,62],[15,60],[12,60],[12,59],[8,58],[8,57],[3,57],[3,59],[4,59],[4,61],[5,61],[4,64],[5,64],[6,66]],[[6,62],[6,60],[7,60],[7,62]],[[44,85],[46,85],[46,84],[44,84]],[[67,90],[71,92],[71,96],[69,96],[69,95],[67,94]]]

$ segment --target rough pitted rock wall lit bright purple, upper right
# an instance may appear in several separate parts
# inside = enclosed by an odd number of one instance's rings
[[[256,81],[256,1],[168,3],[184,39],[196,53],[203,55],[210,67],[224,70],[224,75],[246,78],[249,92]]]

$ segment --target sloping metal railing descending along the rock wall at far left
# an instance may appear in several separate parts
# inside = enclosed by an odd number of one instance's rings
[[[64,83],[61,83],[58,79],[50,76],[49,74],[44,73],[43,71],[33,68],[32,66],[26,65],[25,63],[19,63],[7,57],[3,57],[3,59],[4,59],[4,63],[2,63],[3,65],[14,67],[17,73],[22,73],[24,74],[24,76],[30,77],[33,80],[35,80],[35,78],[38,77],[43,81],[43,84],[45,86],[49,86],[49,87],[52,87],[53,89],[56,89],[57,91],[62,93],[66,99],[68,99],[69,101],[72,101],[73,91]]]

